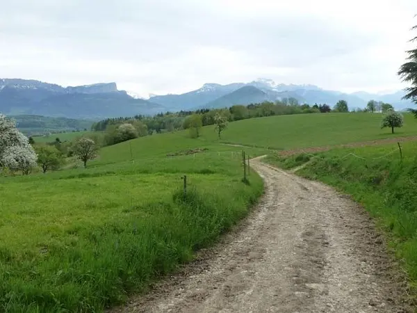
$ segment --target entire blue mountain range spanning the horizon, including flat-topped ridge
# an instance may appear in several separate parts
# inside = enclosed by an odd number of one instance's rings
[[[402,110],[413,107],[402,100],[404,92],[378,95],[359,91],[341,93],[313,85],[276,84],[270,79],[250,83],[206,83],[202,88],[181,95],[153,95],[149,99],[131,97],[117,90],[116,83],[62,87],[26,79],[0,79],[0,112],[6,115],[44,115],[51,117],[99,120],[136,114],[154,115],[163,111],[224,108],[234,104],[251,104],[295,98],[299,103],[329,104],[347,101],[350,109],[364,108],[370,99],[392,104]]]

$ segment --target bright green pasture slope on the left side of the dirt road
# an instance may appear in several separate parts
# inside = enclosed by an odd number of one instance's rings
[[[144,291],[247,214],[263,183],[242,178],[241,150],[188,132],[106,147],[87,169],[0,177],[0,312],[100,312]]]

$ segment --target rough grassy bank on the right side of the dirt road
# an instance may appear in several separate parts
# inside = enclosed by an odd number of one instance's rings
[[[357,149],[336,149],[289,158],[270,158],[272,163],[293,168],[353,196],[363,204],[388,234],[411,285],[417,291],[417,142],[402,143],[403,159],[396,144]]]

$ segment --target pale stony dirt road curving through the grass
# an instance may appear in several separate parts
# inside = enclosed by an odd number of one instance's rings
[[[266,190],[243,225],[114,312],[409,312],[363,209],[328,186],[252,164]]]

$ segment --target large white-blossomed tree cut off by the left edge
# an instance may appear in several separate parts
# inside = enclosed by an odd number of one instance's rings
[[[16,127],[16,122],[0,114],[0,168],[22,170],[28,175],[36,166],[37,156],[28,138]]]

